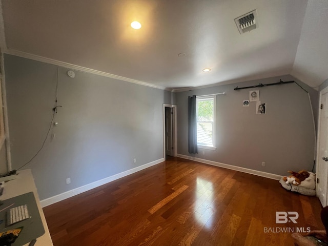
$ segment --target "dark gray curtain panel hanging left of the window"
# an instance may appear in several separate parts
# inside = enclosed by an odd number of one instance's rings
[[[196,96],[188,97],[188,151],[197,154]]]

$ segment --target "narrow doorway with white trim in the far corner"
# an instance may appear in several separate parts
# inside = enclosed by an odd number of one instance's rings
[[[176,105],[163,104],[163,156],[177,155]]]

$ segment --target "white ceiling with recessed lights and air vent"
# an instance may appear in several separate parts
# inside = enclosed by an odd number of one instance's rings
[[[318,87],[328,78],[327,0],[2,0],[2,9],[6,53],[158,88],[284,74]],[[259,28],[239,34],[234,18],[254,9]]]

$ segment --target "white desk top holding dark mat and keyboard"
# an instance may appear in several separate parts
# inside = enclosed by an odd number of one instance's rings
[[[0,197],[2,200],[6,200],[15,196],[23,195],[28,192],[33,192],[35,199],[36,199],[36,204],[37,208],[39,210],[40,217],[43,222],[43,226],[45,229],[45,234],[38,237],[36,239],[36,243],[34,244],[35,246],[53,246],[53,243],[51,241],[49,229],[47,226],[46,218],[43,213],[42,207],[40,205],[40,200],[39,196],[36,191],[34,179],[31,173],[31,170],[23,170],[17,172],[17,178],[14,180],[10,180],[5,183],[4,185],[4,192],[3,195]],[[28,246],[29,243],[25,244],[24,246]]]

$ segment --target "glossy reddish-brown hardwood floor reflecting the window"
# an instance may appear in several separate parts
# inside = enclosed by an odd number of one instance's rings
[[[320,211],[277,180],[175,157],[44,208],[55,246],[294,245],[291,230],[324,229]]]

